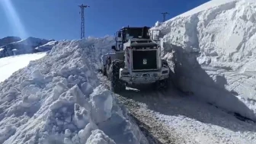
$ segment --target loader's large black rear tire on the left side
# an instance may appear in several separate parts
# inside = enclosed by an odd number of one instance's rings
[[[114,92],[124,91],[126,89],[125,82],[119,78],[119,70],[124,67],[124,62],[112,62],[112,75],[111,75],[111,90]]]

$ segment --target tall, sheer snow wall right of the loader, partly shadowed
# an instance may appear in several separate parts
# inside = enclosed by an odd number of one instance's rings
[[[183,91],[256,120],[256,2],[213,0],[152,29]],[[173,62],[171,62],[173,61]]]

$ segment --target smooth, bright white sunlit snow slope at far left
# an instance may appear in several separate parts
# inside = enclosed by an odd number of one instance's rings
[[[24,68],[31,60],[40,59],[46,53],[24,54],[19,56],[8,56],[0,59],[0,82],[5,81],[14,72]]]

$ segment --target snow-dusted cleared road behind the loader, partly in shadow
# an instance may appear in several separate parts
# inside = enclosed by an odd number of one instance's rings
[[[254,123],[238,120],[175,89],[159,93],[127,88],[117,98],[153,138],[152,143],[256,143]]]

